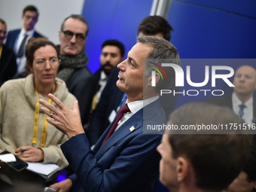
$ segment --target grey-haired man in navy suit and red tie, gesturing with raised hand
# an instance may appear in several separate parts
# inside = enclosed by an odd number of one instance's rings
[[[61,148],[75,172],[72,177],[50,187],[56,190],[65,188],[67,191],[74,185],[73,191],[87,192],[148,192],[154,189],[160,160],[156,147],[162,136],[154,135],[155,130],[148,130],[148,126],[166,123],[159,95],[160,90],[169,87],[174,80],[175,72],[171,67],[163,67],[168,78],[161,79],[158,72],[151,76],[154,69],[145,59],[157,59],[160,62],[160,59],[178,58],[177,50],[169,41],[139,35],[127,59],[117,66],[120,70],[117,87],[126,93],[124,106],[126,109],[128,106],[130,111],[123,112],[120,120],[118,114],[93,151],[79,120],[78,102],[75,102],[74,110],[71,111],[53,95],[49,96],[59,108],[40,100],[41,104],[50,108],[50,111],[41,108],[54,119],[48,118],[48,122],[69,137],[69,141]],[[153,77],[157,82],[156,87],[151,83]],[[123,107],[120,111],[123,111]]]

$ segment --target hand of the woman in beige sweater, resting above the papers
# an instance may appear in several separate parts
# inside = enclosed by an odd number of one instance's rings
[[[19,157],[21,160],[32,163],[44,160],[44,151],[42,151],[41,148],[35,148],[32,146],[17,148],[14,155]]]

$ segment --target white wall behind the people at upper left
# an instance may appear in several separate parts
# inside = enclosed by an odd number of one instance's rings
[[[55,44],[59,44],[58,32],[62,21],[70,14],[81,14],[84,0],[0,0],[0,18],[8,30],[22,27],[22,11],[26,5],[35,5],[39,11],[35,29]]]

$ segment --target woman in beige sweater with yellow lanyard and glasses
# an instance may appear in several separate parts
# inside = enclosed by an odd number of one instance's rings
[[[47,123],[48,116],[39,111],[39,99],[47,99],[47,94],[53,93],[72,108],[75,96],[69,93],[64,81],[56,78],[59,55],[51,41],[30,38],[26,62],[32,74],[7,81],[0,89],[0,149],[24,161],[55,163],[63,169],[68,162],[59,145],[68,137]],[[6,176],[5,181],[16,184],[14,175],[1,172],[1,178]]]

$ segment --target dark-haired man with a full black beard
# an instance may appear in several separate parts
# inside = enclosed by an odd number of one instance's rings
[[[93,75],[96,85],[96,92],[93,97],[92,109],[96,108],[102,90],[107,84],[108,77],[118,63],[123,61],[124,46],[120,41],[111,39],[103,42],[102,53],[100,55],[101,68]]]

